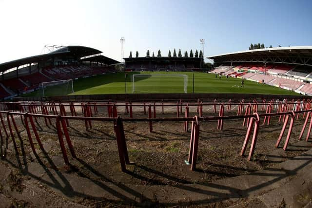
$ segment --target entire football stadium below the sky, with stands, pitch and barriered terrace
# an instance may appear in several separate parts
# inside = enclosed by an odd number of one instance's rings
[[[59,206],[240,207],[302,180],[311,46],[206,57],[212,68],[201,51],[124,62],[101,53],[58,46],[0,64],[5,193],[65,197]]]

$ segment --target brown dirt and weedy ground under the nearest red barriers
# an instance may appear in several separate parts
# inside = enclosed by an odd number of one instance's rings
[[[78,115],[82,115],[78,109]],[[107,116],[106,111],[104,107],[98,108],[99,113],[94,113],[94,116],[105,117]],[[196,107],[191,107],[190,116],[194,116],[195,111]],[[156,112],[157,117],[175,117],[176,107],[165,108],[164,114],[161,113],[161,108],[157,107]],[[217,113],[212,113],[211,106],[204,107],[203,112],[203,116],[217,115]],[[225,113],[225,115],[235,115],[237,106],[232,106],[232,112]],[[129,116],[125,114],[124,107],[118,107],[118,113],[121,117]],[[134,117],[147,117],[147,115],[143,113],[143,108],[134,108]],[[166,191],[168,186],[205,184],[220,179],[250,174],[258,170],[274,168],[281,162],[311,148],[310,142],[298,141],[304,122],[302,114],[299,120],[294,122],[287,151],[282,149],[287,131],[284,133],[279,148],[274,147],[283,125],[282,122],[278,123],[278,117],[272,117],[269,126],[262,125],[261,122],[254,156],[251,161],[247,159],[249,146],[245,153],[247,156],[239,156],[247,131],[246,127],[242,126],[243,119],[225,120],[222,131],[216,129],[217,121],[199,122],[197,170],[191,171],[190,165],[185,162],[189,154],[190,132],[184,132],[183,122],[154,122],[153,132],[149,132],[148,122],[124,122],[128,153],[130,161],[134,162],[134,164],[127,165],[127,171],[122,172],[113,122],[93,121],[93,128],[86,131],[84,122],[70,120],[68,131],[78,158],[72,158],[70,151],[67,149],[71,166],[66,166],[59,147],[55,120],[52,119],[52,125],[47,127],[43,118],[37,119],[36,127],[44,146],[44,150],[40,150],[33,136],[37,154],[34,154],[30,148],[27,132],[21,123],[20,117],[15,116],[15,120],[21,137],[20,140],[17,132],[14,132],[18,154],[10,137],[3,136],[3,139],[1,139],[2,160],[0,163],[10,171],[8,183],[0,184],[0,194],[9,199],[8,204],[10,206],[16,207],[36,207],[36,203],[18,200],[12,194],[12,191],[25,191],[28,184],[25,182],[33,179],[38,180],[38,183],[31,183],[28,186],[39,187],[50,193],[45,195],[43,201],[54,201],[61,199],[61,196],[63,196],[63,201],[58,204],[60,207],[69,206],[68,203],[71,202],[75,203],[76,206],[90,207],[142,206],[142,204],[131,204],[122,199],[111,201],[84,194],[72,195],[70,190],[66,190],[64,186],[57,187],[45,183],[40,180],[40,177],[30,174],[28,165],[33,163],[43,167],[46,173],[50,170],[56,170],[60,173],[88,178],[95,184],[111,182],[131,189],[136,189],[138,185],[146,187],[159,186],[163,187],[159,191]],[[2,135],[4,135],[3,130]],[[306,132],[304,138],[305,135]],[[55,189],[59,189],[62,193],[59,194]],[[192,205],[192,202],[190,202],[190,205]],[[226,207],[230,205],[231,203],[214,204],[212,206]]]

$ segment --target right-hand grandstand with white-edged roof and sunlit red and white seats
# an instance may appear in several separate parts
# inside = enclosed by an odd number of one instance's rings
[[[207,57],[214,60],[215,70],[257,82],[262,80],[269,85],[311,95],[312,47],[294,46],[255,49]],[[229,69],[219,70],[230,65]],[[240,74],[238,74],[240,73]],[[245,74],[243,74],[245,73]]]

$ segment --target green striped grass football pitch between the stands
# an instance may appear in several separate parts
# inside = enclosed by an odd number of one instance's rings
[[[163,76],[143,76],[135,78],[135,91],[133,92],[133,74],[161,74]],[[129,72],[98,75],[74,80],[74,93],[71,86],[53,86],[45,90],[45,96],[58,95],[95,95],[95,94],[132,94],[132,93],[184,93],[184,78],[165,75],[187,75],[187,93],[248,93],[248,94],[279,94],[298,95],[295,92],[280,89],[254,81],[244,80],[241,86],[240,78],[222,76],[215,78],[215,74],[202,72]],[[194,87],[193,87],[194,75]],[[125,79],[127,82],[125,82]],[[127,91],[125,90],[127,85]],[[24,96],[42,96],[38,90]]]

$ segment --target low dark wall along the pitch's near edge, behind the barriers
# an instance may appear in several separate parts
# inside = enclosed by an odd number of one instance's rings
[[[232,98],[232,99],[310,99],[310,96],[304,95],[260,95],[260,94],[106,94],[106,95],[65,95],[51,97],[15,97],[14,101],[31,101],[31,100],[60,100],[60,101],[84,101],[84,100],[197,100],[200,99],[215,99],[215,98]]]

